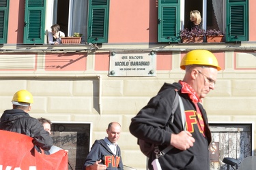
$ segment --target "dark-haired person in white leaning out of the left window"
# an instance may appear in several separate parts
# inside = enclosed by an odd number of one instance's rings
[[[65,37],[65,33],[59,31],[59,24],[53,24],[52,31],[48,33],[48,41],[51,45],[61,44],[61,37]]]

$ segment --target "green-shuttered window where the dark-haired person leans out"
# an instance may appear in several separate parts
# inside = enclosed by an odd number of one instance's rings
[[[7,20],[8,15],[5,16],[2,4],[4,3],[0,3],[0,18],[5,17]],[[47,1],[47,12],[46,0],[25,0],[24,44],[44,44],[46,13],[52,17],[52,24],[60,25],[66,37],[81,33],[83,42],[108,41],[109,0],[53,0],[52,3]],[[0,20],[0,27],[5,27],[5,24],[7,21]]]

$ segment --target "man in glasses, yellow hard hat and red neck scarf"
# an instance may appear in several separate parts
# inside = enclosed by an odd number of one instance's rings
[[[221,67],[212,52],[192,50],[182,58],[180,68],[186,71],[183,80],[165,83],[130,124],[132,135],[159,149],[150,153],[150,170],[153,166],[210,170],[208,146],[212,137],[201,99],[214,90]],[[174,108],[175,101],[179,105]]]

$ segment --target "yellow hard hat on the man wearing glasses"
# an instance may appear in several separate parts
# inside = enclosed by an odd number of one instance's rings
[[[208,50],[192,50],[188,52],[180,63],[181,69],[186,69],[186,65],[209,65],[216,67],[216,69],[221,70],[218,66],[218,61],[214,54]]]

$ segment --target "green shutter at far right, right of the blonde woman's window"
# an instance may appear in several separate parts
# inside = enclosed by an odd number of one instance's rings
[[[248,0],[227,0],[226,41],[248,41]]]

